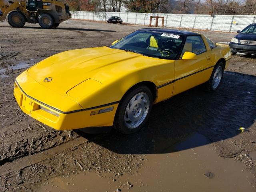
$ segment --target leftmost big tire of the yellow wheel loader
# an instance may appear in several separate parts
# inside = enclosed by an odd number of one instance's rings
[[[26,23],[25,16],[18,10],[10,11],[6,16],[6,20],[10,26],[18,28],[23,27]]]

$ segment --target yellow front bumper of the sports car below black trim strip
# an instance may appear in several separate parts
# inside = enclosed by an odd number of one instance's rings
[[[111,106],[114,107],[112,111],[96,115],[91,115],[91,112],[108,106],[65,114],[28,96],[22,91],[18,82],[14,84],[14,97],[24,113],[56,130],[112,126],[118,107],[118,104],[112,104]]]

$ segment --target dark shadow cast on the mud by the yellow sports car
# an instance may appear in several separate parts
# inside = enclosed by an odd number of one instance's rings
[[[118,154],[170,153],[232,138],[242,126],[253,124],[256,114],[256,76],[225,72],[220,88],[206,92],[201,86],[155,104],[150,120],[139,132],[122,135],[76,133]]]

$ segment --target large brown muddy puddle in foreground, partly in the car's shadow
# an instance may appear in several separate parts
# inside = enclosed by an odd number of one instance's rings
[[[134,173],[80,172],[52,178],[36,191],[102,192],[253,192],[254,176],[240,162],[220,158],[214,144],[195,133],[178,143],[178,151],[147,154],[144,166]],[[192,146],[190,148],[189,146]]]

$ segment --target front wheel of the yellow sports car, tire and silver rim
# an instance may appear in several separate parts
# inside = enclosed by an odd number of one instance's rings
[[[123,134],[140,130],[152,109],[152,93],[146,86],[130,90],[121,100],[114,119],[114,128]]]

